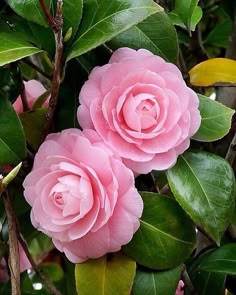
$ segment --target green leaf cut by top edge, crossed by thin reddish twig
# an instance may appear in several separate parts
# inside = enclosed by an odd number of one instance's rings
[[[44,0],[48,8],[50,8],[51,0]],[[47,20],[43,13],[38,0],[6,0],[11,8],[23,18],[35,22],[42,26],[48,26]]]

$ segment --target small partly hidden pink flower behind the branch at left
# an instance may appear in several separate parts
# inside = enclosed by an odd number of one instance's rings
[[[37,80],[30,80],[28,82],[24,82],[25,85],[25,95],[28,101],[29,108],[32,108],[35,101],[47,90],[43,87],[43,85]],[[44,107],[47,107],[48,100],[46,100],[43,104]],[[21,97],[18,96],[16,101],[13,104],[15,111],[20,114],[23,113],[23,105],[21,101]]]

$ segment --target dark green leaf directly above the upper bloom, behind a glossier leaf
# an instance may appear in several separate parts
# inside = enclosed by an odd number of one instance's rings
[[[116,36],[109,47],[145,48],[166,60],[175,62],[178,55],[178,42],[172,21],[165,12],[155,13],[138,25]]]

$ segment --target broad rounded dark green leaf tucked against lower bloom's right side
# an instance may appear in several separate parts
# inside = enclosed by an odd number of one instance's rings
[[[175,200],[148,192],[141,195],[144,210],[140,227],[124,251],[149,268],[178,266],[195,247],[191,220]]]

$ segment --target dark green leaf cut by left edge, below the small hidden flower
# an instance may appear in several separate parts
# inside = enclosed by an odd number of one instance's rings
[[[18,164],[25,157],[23,127],[11,103],[0,97],[0,164]]]

